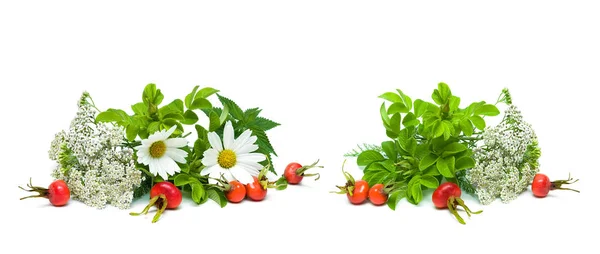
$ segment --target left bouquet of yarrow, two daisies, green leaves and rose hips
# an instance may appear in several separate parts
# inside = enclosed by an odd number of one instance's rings
[[[73,199],[96,208],[126,209],[150,192],[144,213],[156,205],[157,216],[179,205],[181,191],[191,192],[197,204],[211,199],[221,207],[246,194],[263,199],[267,187],[276,187],[265,176],[274,172],[270,161],[276,155],[266,132],[279,124],[218,92],[196,86],[183,100],[164,104],[161,90],[149,84],[142,101],[131,106],[133,114],[102,111],[83,93],[70,128],[52,141],[49,156],[58,162],[52,176],[66,183]],[[209,101],[215,95],[222,107]],[[199,114],[207,116],[208,126],[197,124]]]

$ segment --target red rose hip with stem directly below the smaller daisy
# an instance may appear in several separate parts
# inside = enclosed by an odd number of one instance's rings
[[[182,196],[181,191],[173,185],[171,182],[160,182],[155,184],[150,189],[150,202],[144,208],[141,213],[129,213],[132,216],[141,214],[148,214],[150,207],[156,206],[158,211],[152,219],[152,223],[155,223],[160,218],[160,215],[168,208],[175,209],[181,204]]]

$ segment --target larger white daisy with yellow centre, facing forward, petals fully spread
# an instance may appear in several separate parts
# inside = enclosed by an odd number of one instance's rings
[[[204,152],[202,164],[206,167],[200,174],[217,179],[222,174],[227,181],[238,180],[242,184],[254,182],[252,177],[257,176],[263,168],[259,162],[264,161],[266,156],[261,153],[253,153],[258,146],[254,144],[257,140],[256,136],[251,136],[251,134],[250,130],[246,130],[235,139],[230,121],[225,123],[222,143],[217,133],[208,133],[211,148]],[[216,182],[213,179],[209,179],[209,181]]]

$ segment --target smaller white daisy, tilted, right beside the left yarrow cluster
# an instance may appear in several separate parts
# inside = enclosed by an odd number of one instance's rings
[[[135,147],[138,162],[150,166],[150,173],[160,175],[164,180],[181,169],[175,162],[185,163],[187,153],[179,147],[187,145],[185,138],[169,138],[177,126],[169,130],[157,131],[148,139],[142,140],[142,145]]]

